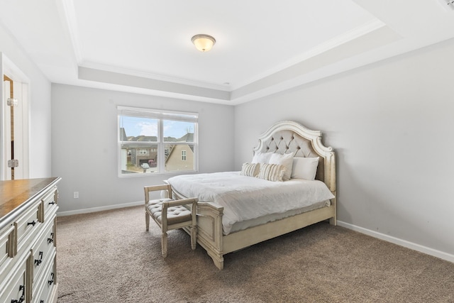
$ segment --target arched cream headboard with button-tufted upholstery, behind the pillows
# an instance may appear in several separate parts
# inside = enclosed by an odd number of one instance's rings
[[[312,131],[294,121],[281,121],[262,133],[258,142],[254,153],[293,153],[295,157],[319,157],[316,180],[325,182],[335,194],[336,159],[333,148],[321,143],[321,131]]]

